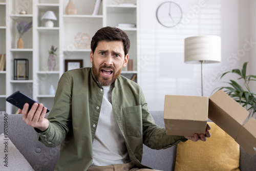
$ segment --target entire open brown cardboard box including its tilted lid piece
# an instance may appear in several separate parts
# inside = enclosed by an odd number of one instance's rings
[[[248,111],[222,90],[208,97],[166,95],[164,123],[167,135],[204,134],[207,117],[236,140],[245,151],[256,153],[256,120]]]

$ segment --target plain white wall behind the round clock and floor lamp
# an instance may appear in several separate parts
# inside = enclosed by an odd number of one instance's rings
[[[241,68],[245,61],[256,64],[255,59],[250,58],[252,52],[256,55],[256,48],[247,43],[253,38],[249,36],[248,24],[249,9],[255,8],[249,8],[249,3],[255,5],[253,0],[173,1],[181,6],[184,16],[176,28],[165,28],[157,21],[157,7],[165,0],[140,2],[140,86],[150,110],[163,110],[167,94],[201,95],[200,65],[184,63],[186,37],[210,34],[222,38],[222,61],[204,65],[204,96],[224,86],[223,81],[237,78],[230,74],[220,80],[221,73]],[[253,19],[255,17],[250,18],[250,22]],[[255,73],[255,69],[250,72]]]

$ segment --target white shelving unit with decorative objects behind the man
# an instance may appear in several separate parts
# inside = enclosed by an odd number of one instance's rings
[[[113,3],[111,0],[102,0],[98,15],[92,15],[94,1],[73,1],[77,7],[76,15],[67,15],[65,8],[69,0],[37,0],[24,4],[19,0],[0,0],[0,54],[6,53],[6,71],[0,72],[0,111],[8,114],[16,112],[17,108],[7,103],[5,98],[19,90],[44,103],[49,109],[54,103],[54,95],[48,95],[48,90],[53,84],[56,90],[58,80],[65,72],[66,59],[82,59],[83,67],[91,67],[90,42],[95,32],[105,26],[116,27],[119,23],[135,24],[135,28],[121,28],[131,40],[129,59],[133,59],[133,71],[123,69],[126,77],[139,83],[138,71],[138,33],[139,33],[139,1],[124,0],[123,4]],[[19,14],[20,9],[25,9],[27,14]],[[46,11],[53,11],[57,17],[53,28],[46,28],[45,21],[41,20]],[[6,18],[6,19],[4,19]],[[33,27],[24,34],[24,49],[17,49],[18,22],[33,22]],[[79,49],[74,44],[74,38],[78,33],[86,33],[90,37],[89,46]],[[51,46],[57,47],[56,67],[54,71],[48,70],[48,50]],[[29,60],[29,79],[14,80],[14,59],[26,58]],[[127,68],[127,67],[126,67]]]

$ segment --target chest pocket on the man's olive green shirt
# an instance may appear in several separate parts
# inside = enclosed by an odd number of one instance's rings
[[[124,122],[127,136],[142,136],[141,105],[123,108]]]

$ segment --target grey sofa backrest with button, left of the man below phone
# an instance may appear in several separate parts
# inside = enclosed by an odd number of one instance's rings
[[[0,134],[4,133],[4,117],[4,115],[0,115]],[[9,139],[32,168],[34,170],[54,170],[59,158],[60,146],[50,148],[39,142],[33,127],[23,121],[22,115],[8,115],[5,118],[8,119]]]

